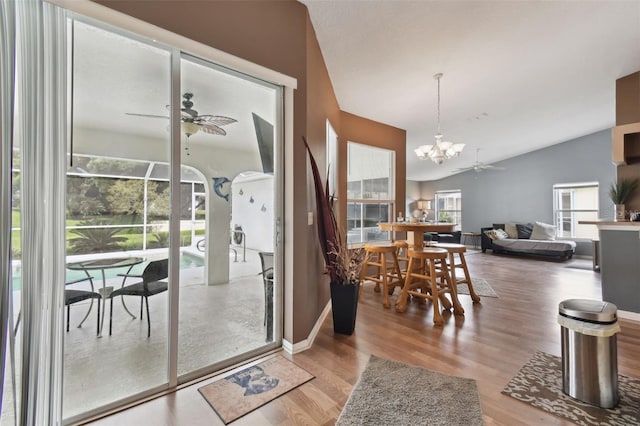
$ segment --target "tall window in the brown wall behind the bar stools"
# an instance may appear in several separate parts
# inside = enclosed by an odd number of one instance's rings
[[[347,243],[388,240],[380,222],[393,217],[393,151],[349,142],[347,145]]]

